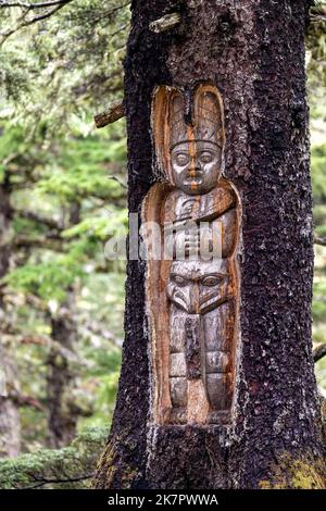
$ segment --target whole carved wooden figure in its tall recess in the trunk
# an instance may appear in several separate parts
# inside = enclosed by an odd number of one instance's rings
[[[199,85],[185,99],[177,88],[159,87],[152,130],[164,175],[142,208],[152,419],[227,423],[236,376],[240,203],[222,175],[217,89]]]

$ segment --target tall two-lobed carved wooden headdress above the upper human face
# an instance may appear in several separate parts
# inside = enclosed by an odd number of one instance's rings
[[[190,110],[190,115],[187,110]],[[188,114],[188,115],[187,115]],[[186,121],[189,117],[189,122]],[[223,104],[216,87],[199,85],[186,108],[181,90],[161,86],[152,103],[152,128],[162,171],[171,175],[171,150],[189,140],[204,140],[224,147]],[[162,129],[162,127],[164,127]]]

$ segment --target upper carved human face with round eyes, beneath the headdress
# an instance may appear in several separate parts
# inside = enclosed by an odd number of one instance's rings
[[[222,150],[213,142],[189,140],[178,144],[171,153],[175,186],[188,195],[208,194],[215,188]]]

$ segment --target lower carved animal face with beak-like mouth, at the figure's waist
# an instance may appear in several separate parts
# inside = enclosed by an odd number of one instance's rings
[[[167,297],[188,314],[206,314],[228,300],[228,272],[227,260],[175,261]]]

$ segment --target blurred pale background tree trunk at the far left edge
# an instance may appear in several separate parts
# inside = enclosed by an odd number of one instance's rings
[[[8,184],[0,185],[0,278],[10,264],[11,256],[11,205]],[[21,419],[18,408],[12,399],[18,387],[17,367],[10,341],[5,303],[0,288],[0,457],[15,457],[21,449]]]

